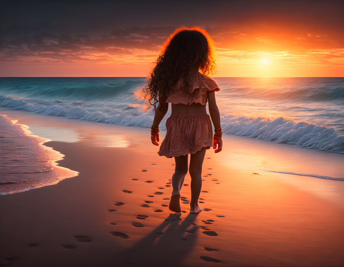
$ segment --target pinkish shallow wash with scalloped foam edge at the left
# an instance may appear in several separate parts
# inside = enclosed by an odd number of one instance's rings
[[[50,141],[0,115],[0,196],[19,193],[78,175],[78,172],[57,166],[60,152],[42,144]]]

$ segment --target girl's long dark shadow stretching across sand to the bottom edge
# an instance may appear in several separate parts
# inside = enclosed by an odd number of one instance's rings
[[[191,223],[197,215],[190,213],[182,220],[180,213],[170,214],[151,233],[127,251],[122,251],[116,259],[121,259],[123,266],[183,266],[183,258],[196,243],[199,227]]]

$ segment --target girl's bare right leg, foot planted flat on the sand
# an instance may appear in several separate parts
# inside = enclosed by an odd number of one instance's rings
[[[198,197],[200,197],[202,188],[202,164],[206,148],[202,148],[195,154],[190,154],[189,173],[191,176],[191,202],[190,213],[198,213],[202,208],[198,206]]]

